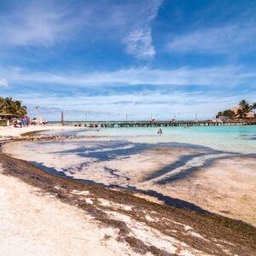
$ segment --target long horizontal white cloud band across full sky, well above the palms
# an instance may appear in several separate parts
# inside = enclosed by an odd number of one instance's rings
[[[61,84],[73,87],[104,87],[119,85],[207,85],[233,86],[256,83],[256,74],[243,67],[205,67],[152,69],[148,67],[93,73],[37,73],[14,68],[0,68],[0,75],[10,83]]]

